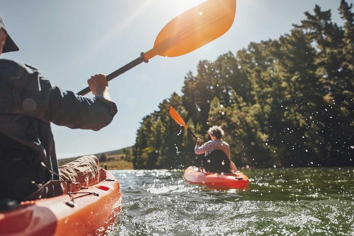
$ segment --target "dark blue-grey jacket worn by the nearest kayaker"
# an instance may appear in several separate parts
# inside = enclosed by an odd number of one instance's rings
[[[0,134],[33,150],[56,173],[58,163],[51,122],[72,129],[99,130],[116,113],[113,102],[52,87],[38,69],[0,59]]]

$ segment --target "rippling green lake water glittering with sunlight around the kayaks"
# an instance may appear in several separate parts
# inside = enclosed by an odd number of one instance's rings
[[[124,204],[110,236],[354,236],[354,168],[244,170],[245,190],[189,184],[183,170],[113,173]]]

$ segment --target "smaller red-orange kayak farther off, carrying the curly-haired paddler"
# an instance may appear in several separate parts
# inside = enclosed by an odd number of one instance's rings
[[[213,188],[245,188],[248,186],[248,177],[242,172],[237,174],[218,174],[201,172],[198,167],[190,166],[183,174],[185,181],[189,183],[203,184]]]

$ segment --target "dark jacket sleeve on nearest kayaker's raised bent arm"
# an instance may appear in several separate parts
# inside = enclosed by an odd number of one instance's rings
[[[104,98],[87,98],[58,87],[27,70],[20,80],[18,108],[21,113],[69,128],[99,130],[117,113],[115,103]]]

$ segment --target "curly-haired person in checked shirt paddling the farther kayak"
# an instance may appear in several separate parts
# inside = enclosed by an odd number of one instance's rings
[[[198,138],[197,145],[194,148],[196,154],[205,153],[206,158],[203,161],[205,171],[224,173],[236,172],[236,165],[230,157],[230,146],[221,139],[224,136],[224,130],[222,130],[220,126],[214,125],[209,128],[208,134],[211,140],[201,146],[203,140]]]

